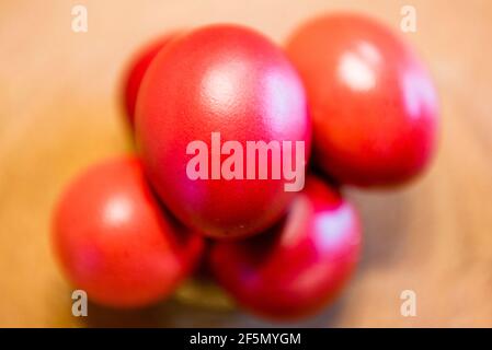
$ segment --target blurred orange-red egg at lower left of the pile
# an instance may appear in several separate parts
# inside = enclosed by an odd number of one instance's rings
[[[113,307],[168,296],[204,246],[161,210],[133,156],[92,166],[68,187],[55,211],[53,243],[69,280]]]

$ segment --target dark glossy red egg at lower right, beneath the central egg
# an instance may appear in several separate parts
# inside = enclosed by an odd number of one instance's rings
[[[210,269],[237,302],[276,319],[311,315],[334,300],[358,259],[355,209],[318,178],[308,178],[286,219],[241,242],[217,242]]]

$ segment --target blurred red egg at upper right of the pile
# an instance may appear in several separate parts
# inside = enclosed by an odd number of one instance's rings
[[[436,92],[401,36],[362,15],[331,14],[297,30],[286,51],[307,90],[321,170],[341,183],[388,186],[425,168]]]

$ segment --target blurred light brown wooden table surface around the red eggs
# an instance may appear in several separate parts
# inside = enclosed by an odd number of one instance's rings
[[[88,8],[89,32],[71,31]],[[300,21],[355,9],[399,28],[401,1],[1,1],[0,326],[267,326],[228,307],[174,299],[135,312],[90,305],[49,248],[54,201],[84,166],[131,151],[118,100],[130,54],[176,27],[236,22],[282,43]],[[364,220],[359,268],[339,301],[301,326],[492,326],[492,2],[411,1],[442,102],[430,171],[397,191],[350,189]],[[453,4],[451,4],[453,3]],[[400,293],[414,290],[416,316]],[[186,294],[186,291],[182,294]],[[278,325],[278,324],[277,324]]]

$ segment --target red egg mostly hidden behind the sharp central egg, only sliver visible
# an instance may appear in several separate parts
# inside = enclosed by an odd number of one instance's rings
[[[148,44],[138,52],[138,55],[134,57],[128,67],[123,84],[123,100],[125,103],[126,116],[131,127],[135,124],[135,106],[137,104],[138,90],[140,89],[147,68],[149,68],[150,62],[161,50],[161,48],[163,48],[176,35],[176,33],[171,33]]]

